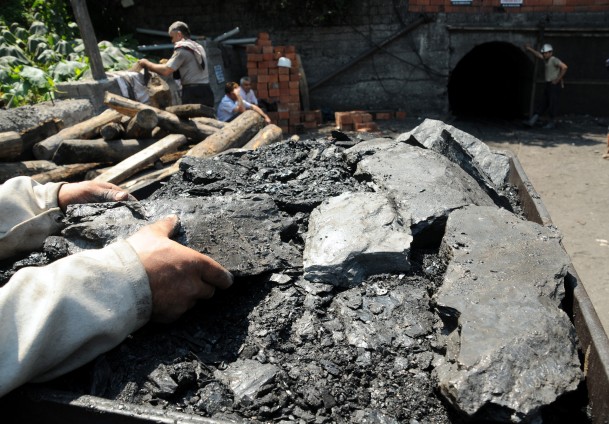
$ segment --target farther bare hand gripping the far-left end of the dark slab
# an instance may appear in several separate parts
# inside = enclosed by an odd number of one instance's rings
[[[63,184],[57,193],[57,203],[62,211],[69,205],[82,203],[120,202],[137,200],[119,186],[101,181],[81,181]]]

